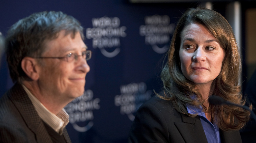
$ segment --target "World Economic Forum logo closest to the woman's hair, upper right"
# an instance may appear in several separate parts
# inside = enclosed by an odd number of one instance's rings
[[[170,24],[168,15],[145,16],[145,25],[140,25],[139,34],[145,36],[145,44],[151,45],[152,49],[163,54],[169,48],[170,35],[173,34],[175,24]]]

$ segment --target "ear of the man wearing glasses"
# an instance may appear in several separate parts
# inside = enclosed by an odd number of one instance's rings
[[[30,77],[32,80],[38,80],[39,72],[36,66],[38,65],[37,61],[32,57],[24,57],[21,60],[21,68]]]

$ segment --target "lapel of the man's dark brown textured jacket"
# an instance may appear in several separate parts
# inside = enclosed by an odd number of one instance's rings
[[[38,116],[26,91],[20,84],[15,84],[8,92],[8,96],[19,110],[27,126],[35,134],[38,143],[52,143],[50,135],[47,133],[43,121]]]

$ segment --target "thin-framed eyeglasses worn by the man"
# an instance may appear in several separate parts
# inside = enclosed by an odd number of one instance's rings
[[[67,62],[71,62],[71,61],[74,61],[74,60],[77,61],[78,56],[82,56],[85,60],[88,61],[92,57],[92,51],[90,51],[90,50],[84,51],[84,52],[82,52],[82,55],[77,55],[77,54],[74,54],[74,53],[70,53],[70,54],[67,54],[66,56],[63,56],[63,57],[42,57],[42,56],[39,56],[39,57],[34,57],[34,58],[58,58],[58,59],[66,58]]]

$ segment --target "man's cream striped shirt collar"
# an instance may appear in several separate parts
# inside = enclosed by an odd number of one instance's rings
[[[50,112],[30,91],[27,87],[22,85],[27,92],[32,104],[35,107],[39,117],[47,123],[53,130],[62,135],[63,129],[69,123],[69,115],[63,108],[56,115]]]

